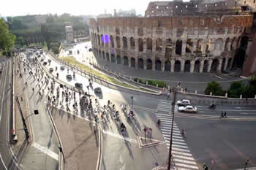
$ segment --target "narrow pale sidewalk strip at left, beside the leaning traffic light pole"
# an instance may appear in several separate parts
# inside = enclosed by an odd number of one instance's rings
[[[20,117],[20,111],[18,109],[18,104],[16,102],[16,96],[18,96],[18,99],[20,101],[20,107],[22,109],[22,112],[23,112],[23,115],[24,117],[28,116],[28,103],[27,103],[27,100],[26,100],[26,95],[25,95],[25,89],[23,89],[24,87],[24,83],[23,83],[23,78],[20,78],[19,77],[19,74],[20,74],[20,69],[19,69],[19,73],[17,73],[17,69],[18,69],[18,59],[15,58],[15,66],[14,66],[14,69],[15,69],[15,74],[14,74],[14,81],[15,81],[15,86],[14,86],[14,89],[15,89],[15,101],[13,101],[15,103],[15,135],[17,136],[18,138],[18,142],[14,145],[12,145],[12,149],[14,150],[15,152],[15,155],[18,155],[18,153],[20,152],[20,150],[22,150],[26,144],[26,142],[24,142],[26,140],[26,137],[25,137],[25,133],[24,133],[24,130],[23,130],[23,122],[21,120],[21,117]],[[29,128],[29,123],[27,123],[28,125],[28,128]],[[30,129],[30,128],[29,128]]]

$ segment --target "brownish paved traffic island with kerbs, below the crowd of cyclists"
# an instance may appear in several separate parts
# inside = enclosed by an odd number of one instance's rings
[[[62,110],[50,109],[63,144],[65,170],[95,170],[99,141],[93,125]]]

